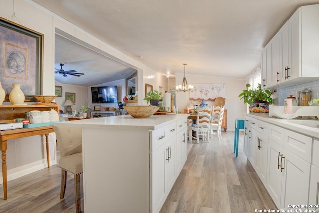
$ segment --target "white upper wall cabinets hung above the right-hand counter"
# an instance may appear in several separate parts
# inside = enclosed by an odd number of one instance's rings
[[[319,79],[319,4],[296,10],[264,48],[261,66],[263,88]]]

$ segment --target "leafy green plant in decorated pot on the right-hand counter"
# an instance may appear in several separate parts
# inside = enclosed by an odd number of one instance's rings
[[[273,103],[271,92],[268,89],[262,89],[261,84],[255,89],[249,89],[250,84],[246,84],[247,89],[238,95],[244,99],[244,103],[249,105],[250,112],[268,112],[268,105]]]

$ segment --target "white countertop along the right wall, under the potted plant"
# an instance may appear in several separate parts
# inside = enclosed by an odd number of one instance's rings
[[[265,121],[270,124],[274,124],[277,126],[280,126],[282,128],[292,130],[294,132],[301,133],[303,135],[308,135],[310,137],[318,138],[319,139],[319,127],[309,127],[305,125],[301,125],[298,123],[293,123],[293,122],[305,122],[308,124],[316,124],[319,125],[319,120],[306,120],[306,119],[281,119],[281,118],[272,118],[269,117],[268,113],[249,113],[246,114],[247,116],[250,116],[252,118]]]

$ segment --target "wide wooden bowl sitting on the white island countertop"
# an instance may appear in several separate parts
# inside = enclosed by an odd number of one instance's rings
[[[160,109],[157,106],[146,106],[146,105],[134,105],[134,106],[123,106],[125,111],[129,113],[133,118],[148,118]]]

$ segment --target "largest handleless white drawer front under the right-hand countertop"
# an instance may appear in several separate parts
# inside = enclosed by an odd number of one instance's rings
[[[285,129],[284,147],[305,161],[311,162],[311,137]]]

